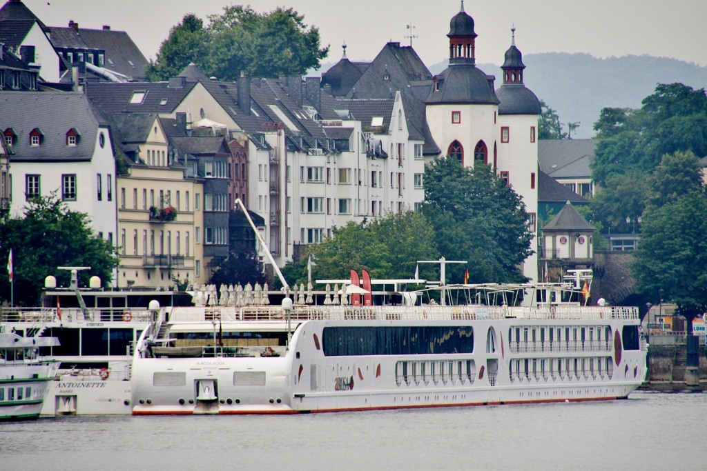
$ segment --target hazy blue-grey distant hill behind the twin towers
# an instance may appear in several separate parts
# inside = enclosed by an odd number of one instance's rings
[[[684,83],[707,88],[707,67],[691,62],[653,56],[624,56],[597,59],[590,54],[548,52],[525,54],[525,85],[554,109],[563,123],[580,121],[575,137],[590,138],[592,126],[605,107],[641,107],[641,100],[658,83]],[[429,67],[433,74],[447,67],[447,61]],[[480,64],[482,71],[496,76],[501,86],[501,68]]]

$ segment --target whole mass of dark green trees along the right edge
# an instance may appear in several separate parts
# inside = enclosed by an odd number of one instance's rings
[[[650,301],[662,297],[691,319],[707,311],[707,94],[682,83],[660,84],[640,109],[604,108],[592,179],[595,224],[628,230],[640,217],[633,276]]]

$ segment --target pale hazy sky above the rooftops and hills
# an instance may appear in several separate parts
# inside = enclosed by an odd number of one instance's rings
[[[1,0],[0,0],[1,1]],[[250,4],[257,11],[292,7],[320,29],[331,49],[325,62],[373,60],[390,40],[413,46],[427,66],[448,55],[449,20],[459,0],[24,0],[47,25],[124,30],[148,59],[186,13],[206,20],[223,6]],[[597,57],[648,54],[707,66],[707,1],[704,0],[467,0],[474,18],[477,61],[500,65],[515,24],[524,54],[587,52]]]

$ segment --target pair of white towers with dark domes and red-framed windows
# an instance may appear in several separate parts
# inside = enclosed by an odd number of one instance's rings
[[[515,28],[503,63],[503,85],[476,66],[474,18],[464,11],[450,21],[449,66],[433,77],[425,100],[428,127],[442,155],[465,167],[491,165],[518,193],[537,230],[537,120],[540,102],[525,87],[525,65],[515,47]],[[523,274],[537,280],[537,255]]]

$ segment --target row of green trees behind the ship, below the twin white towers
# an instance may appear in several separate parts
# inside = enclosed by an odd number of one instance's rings
[[[528,214],[520,196],[487,165],[462,167],[440,158],[425,170],[422,210],[390,213],[334,229],[334,237],[308,247],[317,278],[348,278],[349,269],[366,268],[373,278],[411,278],[418,260],[465,260],[448,267],[448,281],[520,282],[518,268],[530,255]],[[308,256],[289,263],[289,283],[306,282]],[[420,266],[421,278],[438,271]]]

